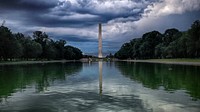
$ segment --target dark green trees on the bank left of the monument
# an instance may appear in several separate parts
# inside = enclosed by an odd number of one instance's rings
[[[80,49],[66,45],[65,40],[54,41],[45,32],[25,36],[0,26],[0,60],[78,60],[82,56]]]

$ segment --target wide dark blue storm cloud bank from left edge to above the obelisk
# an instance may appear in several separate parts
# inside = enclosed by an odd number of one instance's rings
[[[113,7],[104,6],[106,1],[97,1],[98,4],[92,0],[77,0],[75,4],[58,0],[0,0],[0,9],[3,18],[10,20],[13,18],[28,26],[83,27],[99,22],[107,23],[115,18],[135,18],[123,22],[138,20],[148,5],[141,5],[142,1],[136,0],[134,2],[141,4],[134,7],[119,6],[115,11]],[[95,7],[99,7],[99,10]]]

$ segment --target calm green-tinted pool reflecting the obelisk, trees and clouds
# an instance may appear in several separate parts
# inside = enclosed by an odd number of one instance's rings
[[[128,62],[0,66],[0,112],[200,112],[200,67]]]

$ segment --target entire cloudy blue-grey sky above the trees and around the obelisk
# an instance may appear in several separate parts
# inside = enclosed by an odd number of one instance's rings
[[[95,55],[99,22],[106,55],[145,32],[184,31],[197,19],[200,0],[0,0],[0,22],[13,32],[44,31]]]

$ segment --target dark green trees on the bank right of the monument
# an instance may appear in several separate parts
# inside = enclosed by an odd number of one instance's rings
[[[121,46],[118,59],[200,58],[200,21],[187,31],[167,29],[164,34],[152,31]]]

